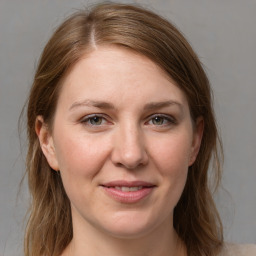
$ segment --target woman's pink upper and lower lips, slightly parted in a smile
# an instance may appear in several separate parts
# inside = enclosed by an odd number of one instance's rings
[[[101,185],[106,195],[120,203],[137,203],[148,197],[156,185],[145,181],[116,180]],[[137,191],[122,191],[115,187],[142,187]]]

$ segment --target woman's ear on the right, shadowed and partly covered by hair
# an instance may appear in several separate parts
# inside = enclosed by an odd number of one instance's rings
[[[203,117],[200,116],[196,119],[196,123],[194,127],[189,166],[191,166],[196,160],[196,157],[198,155],[198,152],[201,146],[203,133],[204,133],[204,119]]]

